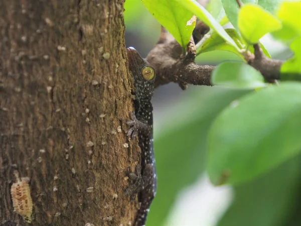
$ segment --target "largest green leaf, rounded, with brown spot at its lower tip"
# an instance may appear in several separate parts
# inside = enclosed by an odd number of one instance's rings
[[[208,135],[207,171],[213,184],[239,184],[301,151],[301,83],[252,92],[216,118]]]

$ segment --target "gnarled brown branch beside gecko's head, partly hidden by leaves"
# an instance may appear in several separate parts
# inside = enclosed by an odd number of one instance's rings
[[[193,32],[194,42],[199,42],[208,31],[208,26],[198,22]],[[187,84],[211,85],[210,77],[215,67],[194,63],[192,42],[187,48],[188,54],[183,57],[180,44],[165,29],[162,29],[158,43],[146,57],[146,60],[156,69],[155,87],[169,82],[178,83],[182,89],[186,89]],[[279,79],[283,61],[269,59],[262,53],[259,45],[254,45],[254,50],[254,54],[246,54],[248,64],[260,71],[268,82]]]

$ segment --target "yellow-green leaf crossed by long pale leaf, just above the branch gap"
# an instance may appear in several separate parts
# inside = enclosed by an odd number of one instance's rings
[[[238,33],[235,31],[235,29],[225,29],[225,31],[227,32],[227,34],[234,40],[234,42],[236,43],[236,45],[240,48],[243,49],[244,46],[240,41],[240,37],[238,35]],[[204,43],[202,46],[200,46],[200,48],[197,49],[197,55],[201,54],[201,53],[205,53],[205,52],[209,52],[209,51],[214,51],[214,50],[225,50],[225,51],[229,51],[229,52],[233,52],[235,54],[237,54],[238,56],[240,56],[242,59],[244,59],[244,57],[242,56],[242,54],[240,53],[240,51],[238,51],[236,48],[234,48],[232,45],[230,45],[229,43],[227,43],[221,36],[219,36],[219,34],[217,34],[216,32],[214,32]]]

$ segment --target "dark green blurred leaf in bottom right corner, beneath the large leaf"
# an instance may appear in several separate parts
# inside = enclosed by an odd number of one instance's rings
[[[218,226],[286,226],[298,202],[300,166],[298,156],[250,183],[234,187],[234,202]]]

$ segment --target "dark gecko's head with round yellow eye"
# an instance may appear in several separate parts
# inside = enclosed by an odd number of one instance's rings
[[[152,97],[155,82],[155,69],[133,48],[126,49],[130,71],[134,77],[135,93]],[[137,95],[136,95],[137,97]]]

